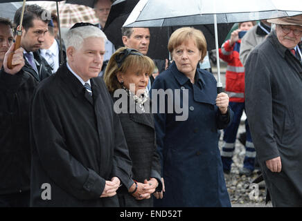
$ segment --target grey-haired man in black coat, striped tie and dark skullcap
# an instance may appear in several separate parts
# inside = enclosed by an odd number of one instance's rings
[[[83,25],[69,30],[67,63],[33,97],[31,206],[118,206],[116,190],[132,184],[123,128],[97,78],[107,38]]]

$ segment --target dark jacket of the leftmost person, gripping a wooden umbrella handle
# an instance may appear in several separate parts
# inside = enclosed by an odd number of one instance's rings
[[[37,81],[0,71],[0,195],[30,189],[29,110]]]

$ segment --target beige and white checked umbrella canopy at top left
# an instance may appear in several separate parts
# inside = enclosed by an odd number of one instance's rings
[[[57,13],[57,6],[54,1],[28,1],[28,3],[37,3],[49,12]],[[71,28],[77,22],[98,23],[94,9],[84,5],[66,3],[66,1],[59,3],[59,15],[61,28]]]

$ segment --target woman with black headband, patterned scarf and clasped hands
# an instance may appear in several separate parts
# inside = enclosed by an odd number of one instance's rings
[[[161,191],[161,166],[146,90],[153,70],[154,63],[149,57],[131,48],[119,48],[110,58],[104,75],[132,158],[133,184],[130,189],[124,186],[119,189],[121,206],[153,206],[151,194]]]

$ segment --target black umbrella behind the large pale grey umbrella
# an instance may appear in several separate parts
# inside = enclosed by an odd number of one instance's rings
[[[112,4],[112,8],[105,24],[104,32],[109,41],[112,41],[116,48],[123,46],[121,28],[127,17],[130,15],[130,12],[132,12],[134,6],[136,6],[136,3],[138,3],[138,0],[117,0]],[[191,27],[202,30],[204,36],[206,37],[208,50],[215,49],[215,31],[213,25],[206,24]],[[222,23],[217,26],[218,32],[220,33],[218,37],[218,42],[220,45],[223,44],[225,37],[232,27],[233,23]],[[172,32],[174,32],[177,28],[180,28],[180,26],[149,28],[151,40],[148,56],[150,56],[152,59],[168,58],[168,39]]]

